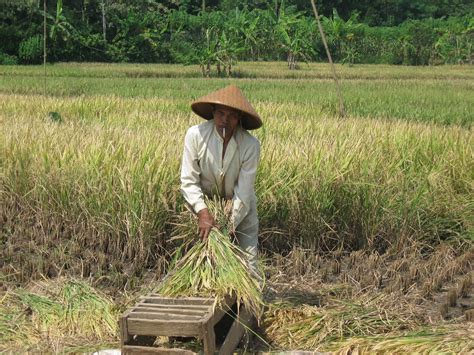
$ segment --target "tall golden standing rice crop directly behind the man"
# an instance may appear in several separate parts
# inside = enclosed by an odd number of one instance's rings
[[[187,127],[200,122],[183,112],[183,103],[3,98],[0,210],[13,234],[1,252],[7,265],[23,266],[6,274],[26,281],[57,274],[67,262],[79,276],[124,270],[134,276],[162,265],[169,222],[183,206],[176,137],[179,142]],[[283,231],[270,234],[264,248],[383,252],[410,240],[432,244],[472,234],[469,130],[338,121],[291,104],[256,106],[268,118],[255,133],[262,143],[260,226]],[[62,124],[47,121],[54,110],[62,113]]]

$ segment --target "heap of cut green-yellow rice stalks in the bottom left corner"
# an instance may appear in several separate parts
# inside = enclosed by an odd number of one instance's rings
[[[116,340],[118,310],[83,281],[48,280],[8,293],[0,304],[0,343],[63,351]],[[1,349],[1,346],[0,346]]]

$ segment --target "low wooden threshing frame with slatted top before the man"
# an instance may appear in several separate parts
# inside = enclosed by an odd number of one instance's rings
[[[214,298],[161,297],[152,293],[142,297],[119,320],[120,343],[123,354],[190,355],[190,350],[157,348],[156,336],[189,336],[203,341],[206,355],[216,352],[214,326],[228,313],[235,298],[227,297],[220,306]],[[240,307],[219,354],[230,354],[239,344],[245,328],[250,326],[252,315]]]

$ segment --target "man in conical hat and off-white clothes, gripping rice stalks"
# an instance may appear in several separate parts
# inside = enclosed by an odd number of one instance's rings
[[[203,240],[216,226],[204,195],[232,200],[231,234],[249,254],[250,268],[256,271],[258,217],[254,184],[260,143],[248,130],[261,127],[262,120],[235,85],[201,97],[191,108],[207,121],[186,133],[181,192],[198,216]]]

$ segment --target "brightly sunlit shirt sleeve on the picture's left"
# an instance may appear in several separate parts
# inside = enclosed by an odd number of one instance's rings
[[[207,208],[201,188],[197,132],[191,127],[184,138],[184,152],[181,163],[181,193],[195,213]]]

